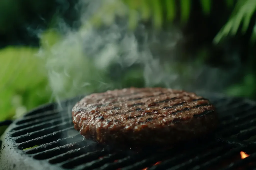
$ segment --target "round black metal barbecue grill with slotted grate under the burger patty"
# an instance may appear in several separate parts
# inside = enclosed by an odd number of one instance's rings
[[[0,169],[255,169],[256,102],[198,94],[216,106],[218,129],[164,149],[118,149],[84,139],[71,119],[72,106],[81,97],[63,101],[61,109],[56,103],[44,105],[8,127],[2,137]],[[247,157],[242,159],[241,154]]]

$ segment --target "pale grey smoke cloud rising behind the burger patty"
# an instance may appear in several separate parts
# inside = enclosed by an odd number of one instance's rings
[[[175,27],[168,31],[149,29],[136,11],[118,0],[80,1],[79,5],[81,27],[73,30],[59,19],[63,35],[55,43],[43,42],[40,50],[52,97],[57,101],[123,88],[127,86],[124,77],[129,77],[132,69],[137,72],[127,80],[129,85],[143,79],[143,86],[219,90],[223,88],[220,82],[230,78],[230,71],[178,62],[184,37]],[[133,31],[126,17],[130,13],[137,23]]]

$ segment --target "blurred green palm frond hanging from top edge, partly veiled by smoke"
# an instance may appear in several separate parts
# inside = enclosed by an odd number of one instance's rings
[[[232,7],[235,0],[226,0],[226,5]],[[122,15],[128,16],[129,27],[134,29],[139,19],[148,21],[153,20],[155,28],[161,28],[163,23],[172,22],[177,14],[177,8],[180,8],[180,21],[182,23],[189,19],[192,0],[182,0],[177,3],[175,0],[121,0],[128,7],[128,10],[120,3],[120,1],[105,1],[95,15],[92,17],[92,22],[96,25],[101,25],[104,22],[106,15],[119,15],[118,11],[122,11]],[[209,15],[213,0],[200,0],[202,12]],[[108,10],[111,9],[111,10]],[[164,15],[165,13],[165,15]]]

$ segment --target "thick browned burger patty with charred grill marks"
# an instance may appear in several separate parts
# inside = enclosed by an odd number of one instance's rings
[[[209,100],[167,88],[125,88],[84,97],[72,109],[75,129],[111,145],[172,145],[216,127]]]

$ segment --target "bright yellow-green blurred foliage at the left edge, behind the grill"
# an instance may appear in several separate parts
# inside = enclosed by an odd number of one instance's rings
[[[26,47],[0,50],[0,121],[49,101],[46,72],[37,53]]]

